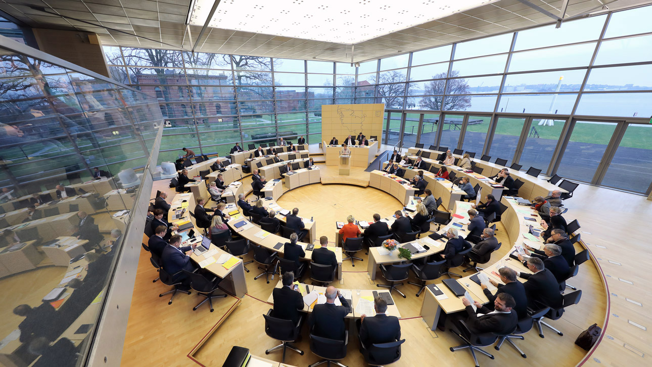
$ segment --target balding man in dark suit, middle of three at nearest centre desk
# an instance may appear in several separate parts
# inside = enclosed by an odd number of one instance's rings
[[[308,330],[316,336],[333,340],[344,340],[344,317],[351,308],[349,302],[342,297],[336,287],[329,286],[325,292],[326,303],[317,304],[308,319]],[[339,298],[342,306],[335,305],[335,298]]]

